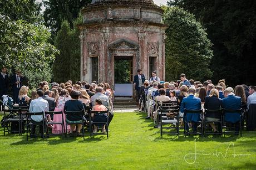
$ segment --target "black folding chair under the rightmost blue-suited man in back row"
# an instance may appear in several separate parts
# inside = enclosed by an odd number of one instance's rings
[[[240,120],[233,123],[225,120],[225,114],[239,114]],[[239,126],[238,126],[239,125]],[[239,134],[240,130],[240,137],[242,137],[242,109],[237,110],[228,110],[223,109],[223,135],[225,137],[226,134]]]

